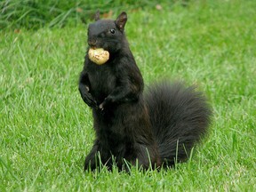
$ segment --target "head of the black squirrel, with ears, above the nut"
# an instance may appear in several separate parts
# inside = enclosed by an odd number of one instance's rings
[[[122,12],[116,20],[100,20],[100,12],[95,15],[95,22],[88,28],[88,44],[92,48],[103,48],[110,54],[118,52],[125,41],[124,26],[127,21],[126,12]]]

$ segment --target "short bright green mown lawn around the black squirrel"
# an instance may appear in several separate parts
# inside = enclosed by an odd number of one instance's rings
[[[94,139],[77,89],[85,26],[0,31],[0,191],[255,190],[256,1],[202,2],[128,12],[145,83],[197,84],[213,108],[208,138],[167,171],[83,172]]]

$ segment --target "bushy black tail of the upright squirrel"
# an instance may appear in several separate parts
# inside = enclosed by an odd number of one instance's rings
[[[211,109],[196,87],[163,81],[145,94],[162,164],[188,159],[195,143],[207,133]]]

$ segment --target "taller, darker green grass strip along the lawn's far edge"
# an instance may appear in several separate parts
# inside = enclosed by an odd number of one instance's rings
[[[181,0],[182,1],[182,0]],[[148,0],[2,0],[0,2],[0,29],[1,28],[32,28],[43,26],[63,28],[67,24],[76,25],[87,22],[92,18],[95,10],[105,12],[138,9],[140,7],[154,7],[156,4],[173,4],[172,1],[161,0],[150,2]],[[184,0],[184,4],[186,0]]]

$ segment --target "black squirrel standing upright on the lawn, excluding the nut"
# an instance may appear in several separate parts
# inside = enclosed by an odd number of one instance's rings
[[[100,163],[121,170],[126,163],[145,169],[172,166],[188,159],[210,124],[207,100],[193,87],[163,81],[143,94],[143,78],[124,35],[126,21],[125,12],[116,20],[100,20],[98,12],[88,28],[88,50],[103,48],[109,59],[97,65],[87,50],[79,79],[96,132],[84,170]]]

